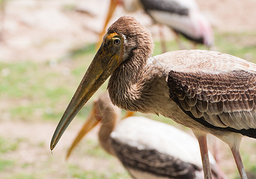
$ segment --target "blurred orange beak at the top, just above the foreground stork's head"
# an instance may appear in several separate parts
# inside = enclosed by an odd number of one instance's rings
[[[110,1],[110,6],[109,6],[109,12],[107,13],[107,18],[106,18],[106,21],[105,21],[105,24],[104,24],[104,27],[103,27],[103,30],[101,31],[100,33],[100,36],[99,36],[99,40],[98,40],[98,43],[96,45],[96,48],[98,49],[101,45],[101,41],[103,39],[103,36],[104,34],[106,33],[106,29],[107,29],[107,24],[109,24],[109,21],[111,19],[111,17],[113,16],[113,13],[116,9],[116,6],[118,5],[118,0],[111,0]]]

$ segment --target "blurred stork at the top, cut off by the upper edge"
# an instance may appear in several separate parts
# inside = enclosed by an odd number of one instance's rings
[[[111,0],[106,21],[100,33],[99,42],[101,42],[106,32],[107,24],[118,4],[121,4],[125,11],[128,12],[144,10],[155,23],[160,25],[159,32],[164,52],[167,50],[164,43],[165,38],[161,30],[162,24],[173,30],[177,44],[181,49],[185,47],[183,47],[179,35],[183,35],[185,38],[194,42],[194,48],[196,44],[203,44],[208,48],[214,44],[212,26],[201,13],[197,2],[194,0]],[[100,43],[98,44],[100,46]]]

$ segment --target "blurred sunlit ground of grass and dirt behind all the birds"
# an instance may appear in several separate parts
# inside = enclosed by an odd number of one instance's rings
[[[256,1],[197,2],[213,26],[214,50],[256,63]],[[65,161],[92,99],[106,91],[107,83],[79,112],[53,153],[49,149],[53,131],[97,51],[108,8],[106,0],[0,0],[0,178],[131,178],[99,146],[98,128]],[[158,26],[142,10],[126,13],[118,7],[110,24],[124,14],[153,33],[154,55],[161,54]],[[179,50],[168,27],[164,35],[168,51]],[[190,48],[186,39],[182,42]],[[191,134],[170,119],[147,117]],[[221,168],[228,178],[239,178],[228,146],[219,144]],[[256,178],[256,141],[244,138],[240,151],[248,178]]]

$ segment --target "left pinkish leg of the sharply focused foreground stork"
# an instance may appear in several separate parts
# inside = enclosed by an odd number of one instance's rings
[[[210,161],[209,161],[209,155],[208,155],[206,133],[200,132],[200,131],[194,131],[194,130],[192,130],[192,131],[199,143],[201,159],[202,159],[202,163],[203,163],[204,179],[212,179],[212,172],[210,169]]]

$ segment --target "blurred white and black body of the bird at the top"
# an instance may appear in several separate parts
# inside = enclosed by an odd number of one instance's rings
[[[213,45],[213,32],[207,19],[192,0],[140,0],[153,20],[165,24],[191,41]]]

